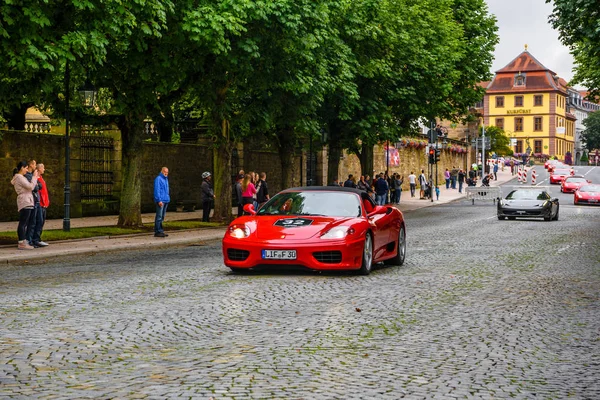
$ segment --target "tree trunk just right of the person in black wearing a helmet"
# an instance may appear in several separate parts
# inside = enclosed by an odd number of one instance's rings
[[[213,149],[213,190],[215,192],[214,222],[231,221],[231,153],[234,144],[229,140],[229,121],[221,121],[221,132]],[[237,173],[237,171],[236,171]]]

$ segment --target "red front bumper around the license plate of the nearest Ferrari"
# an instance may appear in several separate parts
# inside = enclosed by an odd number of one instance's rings
[[[258,266],[303,266],[315,270],[351,270],[362,265],[364,238],[315,241],[223,238],[223,259],[232,268]],[[295,250],[296,259],[264,259],[263,250]]]

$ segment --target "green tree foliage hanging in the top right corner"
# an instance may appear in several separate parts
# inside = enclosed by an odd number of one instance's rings
[[[571,84],[589,88],[589,99],[600,96],[600,15],[598,0],[546,0],[553,3],[550,22],[575,58]]]

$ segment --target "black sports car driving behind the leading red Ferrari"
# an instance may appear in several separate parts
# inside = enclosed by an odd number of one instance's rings
[[[544,218],[558,220],[558,199],[544,187],[523,187],[511,191],[498,201],[498,219]]]

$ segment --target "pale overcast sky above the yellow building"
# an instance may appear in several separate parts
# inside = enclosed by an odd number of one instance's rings
[[[529,45],[529,53],[567,82],[573,78],[573,57],[558,40],[548,16],[552,4],[545,0],[485,0],[498,20],[498,36],[492,72],[503,68]]]

